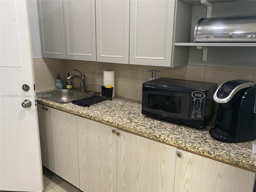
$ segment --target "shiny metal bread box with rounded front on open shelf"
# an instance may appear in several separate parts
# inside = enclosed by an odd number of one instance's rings
[[[256,42],[256,15],[201,18],[194,42]]]

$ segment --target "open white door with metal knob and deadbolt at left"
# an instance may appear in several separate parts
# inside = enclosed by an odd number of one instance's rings
[[[0,0],[0,22],[0,190],[42,192],[26,1]],[[26,99],[32,105],[23,108]]]

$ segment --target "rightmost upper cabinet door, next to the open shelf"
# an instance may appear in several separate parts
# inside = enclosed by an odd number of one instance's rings
[[[171,66],[174,0],[130,0],[130,64]]]

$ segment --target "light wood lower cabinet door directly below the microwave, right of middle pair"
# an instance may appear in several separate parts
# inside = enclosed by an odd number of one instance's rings
[[[172,192],[176,148],[117,130],[117,191]]]

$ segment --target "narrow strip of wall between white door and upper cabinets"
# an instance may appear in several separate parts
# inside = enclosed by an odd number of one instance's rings
[[[27,2],[33,58],[42,58],[37,1],[28,0]]]

